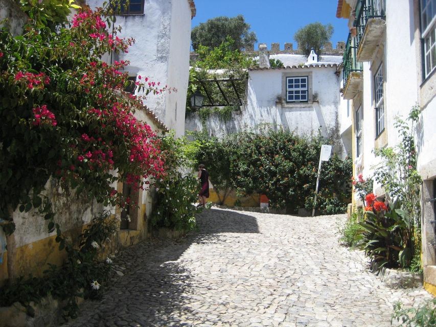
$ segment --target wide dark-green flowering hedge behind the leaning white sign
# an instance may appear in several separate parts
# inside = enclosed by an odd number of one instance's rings
[[[289,213],[312,208],[320,137],[305,138],[270,128],[261,133],[241,131],[223,139],[201,133],[195,137],[201,143],[197,163],[208,168],[214,188],[266,194],[272,207],[286,208]],[[351,159],[341,160],[336,154],[324,162],[317,200],[323,214],[346,211],[351,167]]]

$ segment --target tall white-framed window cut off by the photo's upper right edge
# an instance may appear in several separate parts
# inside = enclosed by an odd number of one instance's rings
[[[424,78],[436,67],[436,0],[421,0]]]

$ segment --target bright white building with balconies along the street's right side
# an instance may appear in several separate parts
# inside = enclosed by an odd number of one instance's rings
[[[415,141],[424,179],[424,286],[436,295],[436,1],[339,0],[336,16],[348,19],[350,28],[343,98],[351,101],[355,177],[373,175],[379,162],[374,149],[400,141],[396,116],[406,118],[414,105],[420,107]]]

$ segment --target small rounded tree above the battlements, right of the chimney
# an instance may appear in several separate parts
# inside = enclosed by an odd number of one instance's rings
[[[294,39],[297,41],[298,49],[301,53],[308,56],[313,48],[315,53],[320,55],[321,49],[330,40],[333,31],[334,29],[331,24],[323,25],[320,22],[313,22],[296,31]]]

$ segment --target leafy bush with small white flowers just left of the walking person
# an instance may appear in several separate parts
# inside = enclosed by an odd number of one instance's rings
[[[195,228],[195,214],[201,209],[194,203],[200,191],[199,183],[188,168],[198,144],[186,138],[174,139],[174,132],[162,138],[162,154],[166,175],[154,182],[158,194],[150,219],[152,227],[168,227],[189,231]]]

